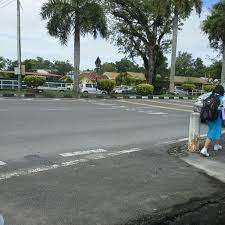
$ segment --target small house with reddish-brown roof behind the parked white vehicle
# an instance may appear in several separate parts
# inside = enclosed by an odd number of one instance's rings
[[[98,75],[95,72],[85,72],[79,75],[80,84],[96,84],[99,80],[107,80],[105,75]]]

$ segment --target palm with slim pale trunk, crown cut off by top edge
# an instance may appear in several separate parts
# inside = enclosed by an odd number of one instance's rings
[[[197,13],[201,14],[202,0],[172,0],[173,7],[173,39],[172,39],[172,56],[171,56],[171,71],[170,71],[170,92],[174,92],[174,77],[176,73],[176,57],[177,57],[177,34],[179,19],[187,18],[195,7]]]

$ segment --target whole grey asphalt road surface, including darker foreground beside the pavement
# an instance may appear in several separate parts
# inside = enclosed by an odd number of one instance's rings
[[[192,104],[0,99],[6,225],[111,225],[221,190],[167,154],[187,137]]]

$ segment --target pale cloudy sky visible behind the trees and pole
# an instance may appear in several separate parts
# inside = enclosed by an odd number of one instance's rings
[[[46,0],[21,0],[21,33],[22,59],[37,56],[50,60],[69,60],[73,63],[73,41],[67,46],[61,46],[58,39],[50,37],[46,30],[46,22],[41,20],[40,8]],[[210,7],[218,0],[203,0],[204,8],[201,18],[196,13],[184,22],[178,35],[178,51],[188,51],[194,58],[201,57],[205,64],[212,59],[220,59],[218,53],[209,47],[208,38],[201,31],[201,22],[206,17]],[[5,2],[11,2],[4,6]],[[0,0],[0,56],[16,59],[16,0]],[[115,62],[125,57],[118,48],[101,38],[94,40],[91,36],[81,38],[81,69],[95,67],[95,60],[100,57],[102,63]],[[170,63],[170,55],[167,55]],[[136,62],[142,64],[140,59]]]

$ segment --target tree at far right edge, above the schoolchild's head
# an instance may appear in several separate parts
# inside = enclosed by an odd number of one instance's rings
[[[208,35],[210,46],[223,54],[221,83],[225,82],[225,0],[214,5],[211,14],[203,22],[203,31]]]

